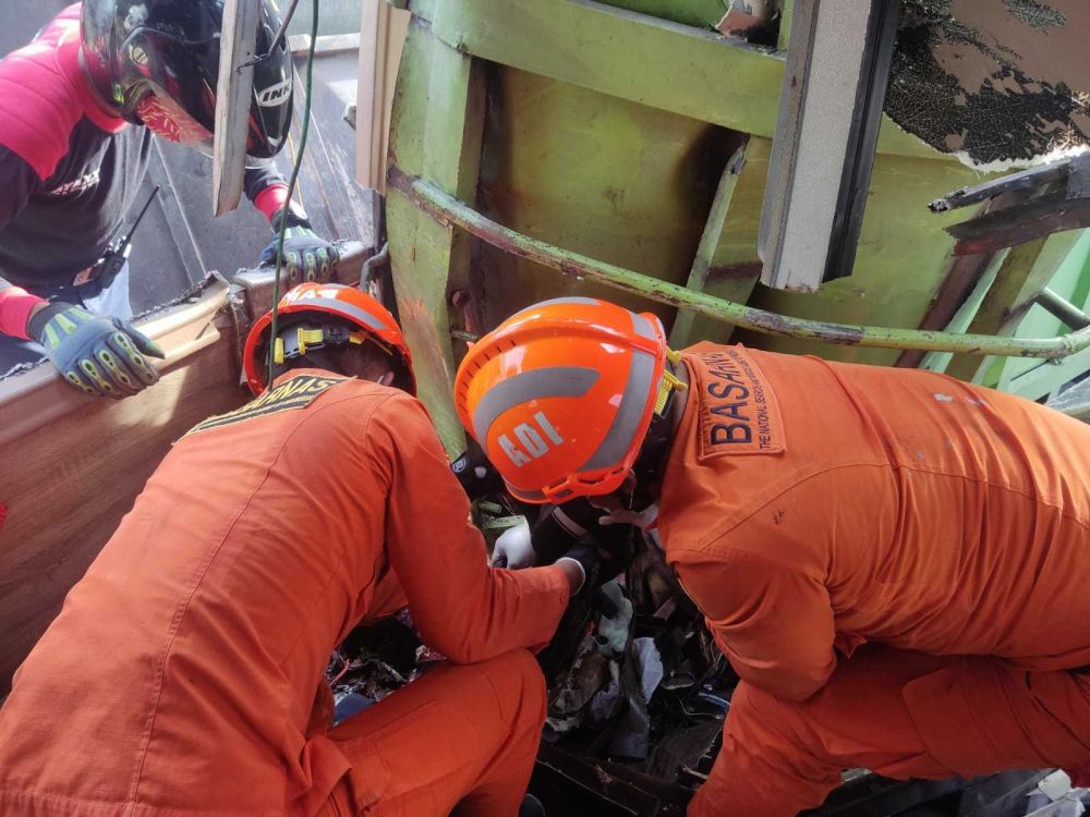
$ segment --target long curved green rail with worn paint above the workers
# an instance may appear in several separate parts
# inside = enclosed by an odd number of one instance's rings
[[[1055,338],[1013,338],[992,334],[958,334],[922,329],[852,326],[792,318],[732,301],[725,301],[533,239],[482,216],[435,184],[405,174],[396,167],[390,169],[389,183],[436,221],[459,227],[507,253],[559,270],[577,279],[585,278],[598,281],[652,301],[682,309],[691,309],[701,315],[766,334],[880,349],[912,349],[927,352],[956,352],[1046,359],[1059,359],[1090,349],[1090,328]]]

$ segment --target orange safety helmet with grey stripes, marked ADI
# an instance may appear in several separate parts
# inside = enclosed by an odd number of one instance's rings
[[[524,502],[609,493],[677,379],[658,318],[590,297],[516,313],[458,368],[462,424]]]

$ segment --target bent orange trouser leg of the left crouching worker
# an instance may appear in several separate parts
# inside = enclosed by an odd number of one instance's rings
[[[544,722],[530,653],[439,667],[329,732],[352,768],[318,814],[513,817]]]

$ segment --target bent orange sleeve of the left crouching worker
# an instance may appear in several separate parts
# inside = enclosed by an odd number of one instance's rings
[[[373,466],[389,486],[386,552],[424,639],[457,663],[546,644],[568,603],[567,578],[554,566],[488,566],[424,406],[408,394],[391,397],[365,432]]]

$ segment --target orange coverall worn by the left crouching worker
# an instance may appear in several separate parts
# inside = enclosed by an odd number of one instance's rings
[[[330,730],[332,647],[402,587],[450,664]],[[0,814],[510,817],[567,599],[487,566],[416,400],[289,373],[175,443],[20,668]]]

